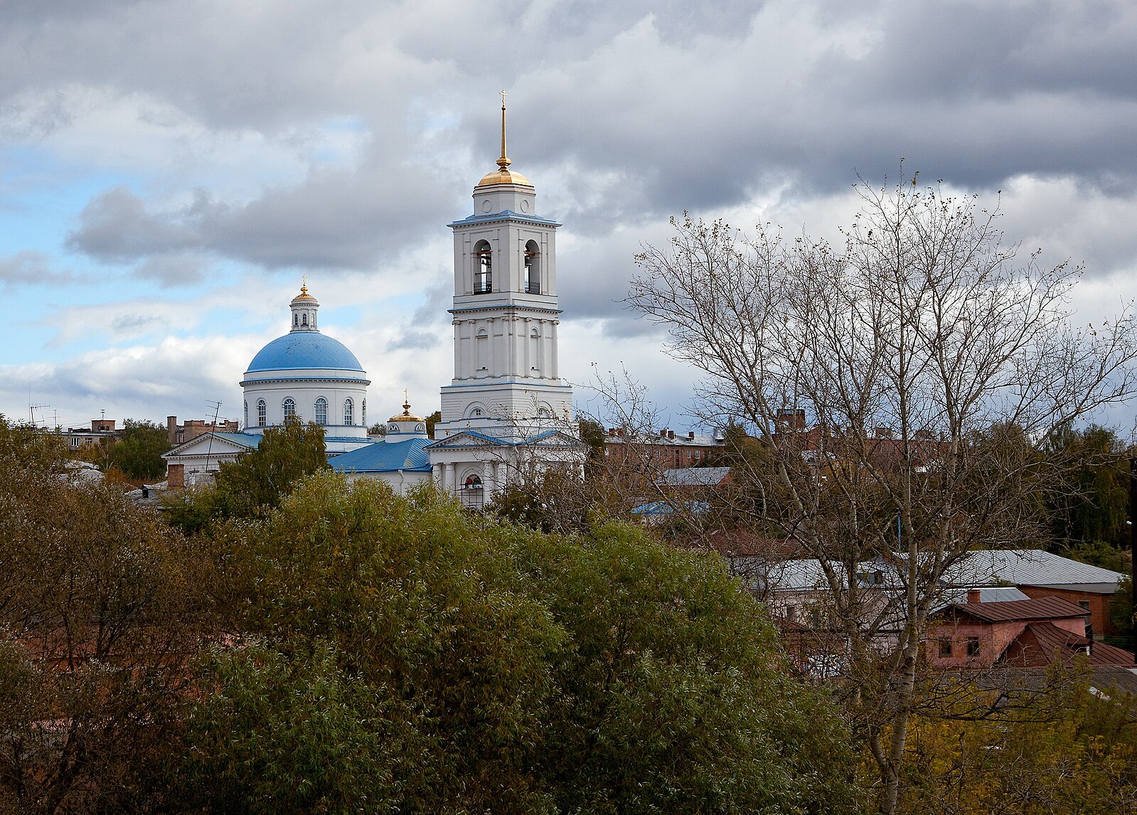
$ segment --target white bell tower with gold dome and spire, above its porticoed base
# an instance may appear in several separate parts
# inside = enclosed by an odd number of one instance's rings
[[[506,438],[572,415],[557,364],[559,224],[537,215],[533,185],[509,169],[504,92],[497,165],[474,188],[474,214],[449,224],[454,380],[442,388],[439,438],[460,430]]]

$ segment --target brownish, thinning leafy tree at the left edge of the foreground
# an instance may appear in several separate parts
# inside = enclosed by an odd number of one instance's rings
[[[63,477],[40,433],[0,418],[0,812],[135,812],[176,749],[209,562]]]

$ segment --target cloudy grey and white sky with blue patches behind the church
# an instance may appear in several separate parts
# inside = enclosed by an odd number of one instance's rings
[[[404,388],[437,409],[446,224],[493,169],[501,89],[563,224],[562,373],[623,363],[675,429],[697,377],[621,300],[683,210],[836,238],[857,174],[904,157],[1084,263],[1080,318],[1135,291],[1130,0],[3,0],[0,413],[239,417],[301,275],[370,418]]]

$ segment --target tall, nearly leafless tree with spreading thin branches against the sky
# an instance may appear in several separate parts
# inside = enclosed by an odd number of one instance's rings
[[[1040,533],[1024,507],[1055,471],[1035,442],[1130,397],[1137,344],[1129,309],[1072,327],[1080,268],[1019,259],[997,208],[915,177],[856,189],[844,251],[673,219],[629,301],[705,372],[704,418],[742,421],[765,450],[763,523],[825,576],[846,709],[891,813],[940,579],[971,548]],[[894,590],[866,580],[873,558]]]

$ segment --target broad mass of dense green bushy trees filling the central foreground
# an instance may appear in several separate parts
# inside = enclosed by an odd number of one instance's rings
[[[714,557],[318,474],[217,530],[180,770],[225,812],[849,812],[823,693]]]

